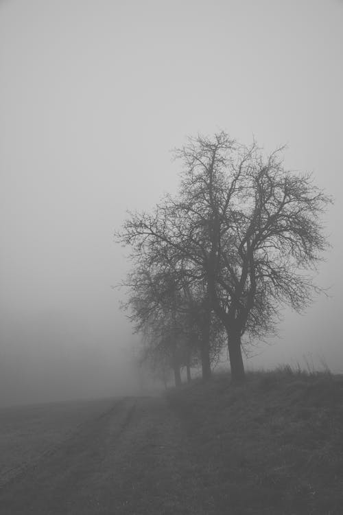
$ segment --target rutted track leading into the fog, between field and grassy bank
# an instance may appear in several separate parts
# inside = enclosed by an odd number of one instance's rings
[[[3,515],[203,512],[189,436],[163,398],[123,398],[0,490]]]

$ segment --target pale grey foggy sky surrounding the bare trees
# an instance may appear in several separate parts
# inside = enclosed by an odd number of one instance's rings
[[[176,191],[171,148],[220,129],[287,144],[335,196],[329,297],[247,367],[343,372],[342,50],[335,0],[0,2],[0,404],[141,390],[113,233]]]

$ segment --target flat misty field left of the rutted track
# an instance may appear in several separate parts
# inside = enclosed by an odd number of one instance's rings
[[[0,487],[112,402],[105,399],[1,408]]]

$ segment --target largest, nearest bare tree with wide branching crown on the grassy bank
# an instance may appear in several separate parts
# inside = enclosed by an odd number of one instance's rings
[[[285,170],[282,150],[263,157],[224,132],[189,138],[175,151],[178,196],[130,214],[117,234],[136,253],[167,249],[202,284],[204,319],[213,311],[226,329],[233,380],[244,379],[242,336],[272,332],[281,306],[300,311],[319,290],[311,272],[328,246],[320,216],[331,199],[311,175]]]

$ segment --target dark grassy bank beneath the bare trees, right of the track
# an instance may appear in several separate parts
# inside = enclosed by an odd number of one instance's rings
[[[284,369],[233,387],[217,376],[167,399],[198,463],[205,512],[342,513],[343,378]]]

